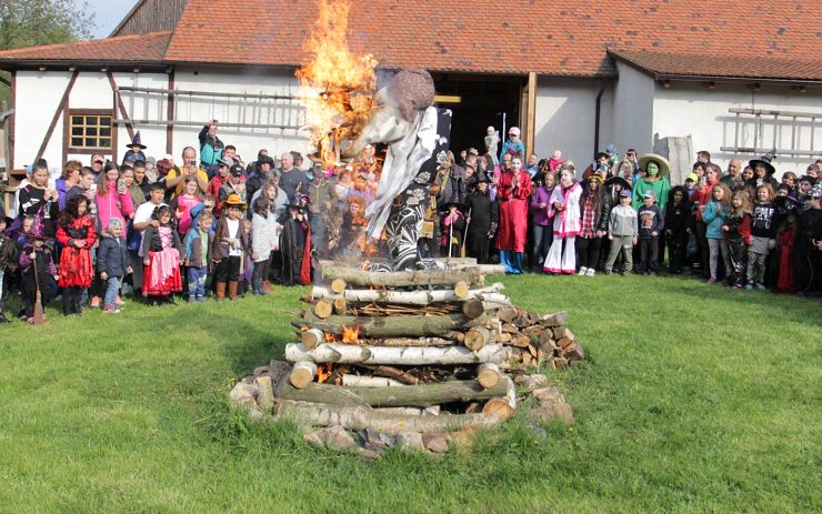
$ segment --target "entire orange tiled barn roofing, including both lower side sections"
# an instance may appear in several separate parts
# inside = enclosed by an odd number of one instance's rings
[[[112,38],[0,52],[0,62],[12,52],[22,52],[16,60],[86,59],[93,49],[111,60],[149,53],[167,63],[299,65],[317,12],[314,0],[189,0],[167,49],[162,32],[144,37],[157,39],[153,47]],[[349,42],[383,68],[613,75],[611,50],[663,56],[642,62],[670,74],[704,68],[715,77],[820,80],[819,27],[819,0],[352,0]]]

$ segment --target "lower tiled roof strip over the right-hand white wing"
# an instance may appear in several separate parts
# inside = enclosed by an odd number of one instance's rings
[[[775,57],[694,56],[654,52],[610,52],[618,60],[645,70],[656,79],[742,78],[822,81],[822,60]]]

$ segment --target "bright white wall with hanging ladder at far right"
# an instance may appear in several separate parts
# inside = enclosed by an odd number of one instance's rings
[[[691,135],[694,151],[708,150],[711,160],[723,169],[734,157],[743,161],[752,159],[751,153],[734,155],[732,152],[720,151],[721,147],[735,144],[735,114],[728,112],[730,108],[764,109],[782,111],[800,111],[819,113],[815,123],[814,150],[822,155],[822,88],[809,89],[805,93],[792,91],[788,85],[762,85],[760,91],[752,91],[744,84],[718,83],[710,90],[699,83],[673,82],[671,88],[658,85],[653,101],[653,125],[651,135],[660,138],[670,135]],[[742,123],[739,129],[739,147],[754,147],[753,118],[743,115],[750,122]],[[783,120],[774,125],[773,118],[764,119],[762,124],[764,148],[773,148],[774,128],[776,148],[791,147],[790,120]],[[795,132],[796,144],[810,149],[810,121],[800,123]],[[695,155],[694,155],[695,160]],[[776,155],[774,165],[778,175],[784,171],[804,173],[811,157]]]

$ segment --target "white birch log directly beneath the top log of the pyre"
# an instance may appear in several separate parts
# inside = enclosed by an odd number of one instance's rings
[[[504,289],[501,283],[488,288],[469,289],[464,296],[458,296],[454,291],[391,291],[384,289],[350,289],[342,293],[335,293],[330,288],[315,285],[311,290],[314,299],[333,300],[343,299],[351,303],[393,303],[404,305],[430,305],[431,303],[457,302],[465,300],[481,300],[487,303],[510,305],[511,299],[501,294]]]

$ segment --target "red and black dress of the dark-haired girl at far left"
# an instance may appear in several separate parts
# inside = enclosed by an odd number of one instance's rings
[[[91,265],[91,246],[97,241],[94,222],[88,215],[80,216],[69,224],[58,224],[57,240],[63,245],[60,253],[61,288],[88,288],[94,270]],[[86,241],[86,246],[74,246],[74,241]]]

